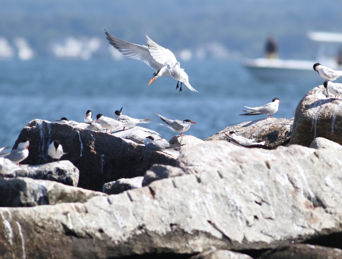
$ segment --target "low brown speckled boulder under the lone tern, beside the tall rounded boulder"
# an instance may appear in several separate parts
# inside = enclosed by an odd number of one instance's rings
[[[255,138],[255,141],[265,141],[266,146],[274,148],[277,146],[288,145],[291,137],[293,118],[292,119],[275,119],[266,118],[255,121],[242,122],[234,126],[228,126],[222,131],[208,137],[207,140],[228,140],[227,136],[230,131],[235,131],[236,135],[245,138]]]

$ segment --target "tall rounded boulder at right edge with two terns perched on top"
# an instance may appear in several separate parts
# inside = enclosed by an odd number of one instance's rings
[[[342,101],[333,97],[323,85],[303,97],[295,111],[291,144],[309,147],[323,137],[342,145]]]

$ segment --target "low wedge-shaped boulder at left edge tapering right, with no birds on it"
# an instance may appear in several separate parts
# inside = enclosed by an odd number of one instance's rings
[[[48,180],[28,177],[0,179],[0,207],[31,207],[62,202],[86,202],[91,197],[106,195]]]

